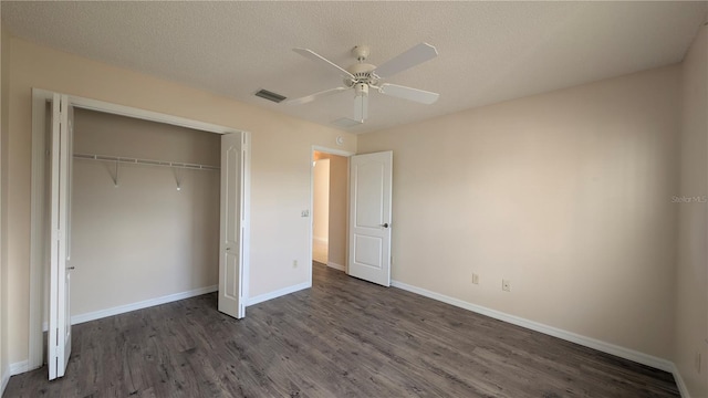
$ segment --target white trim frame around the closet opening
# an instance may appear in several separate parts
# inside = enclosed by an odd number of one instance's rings
[[[49,281],[45,279],[44,260],[45,260],[45,240],[44,231],[46,231],[46,222],[43,217],[43,212],[46,205],[46,189],[44,186],[45,166],[46,166],[46,102],[52,98],[53,94],[63,94],[60,92],[32,88],[32,170],[31,170],[31,212],[30,212],[30,305],[29,305],[29,356],[27,370],[32,370],[41,367],[44,362],[44,338],[43,338],[43,320],[45,311],[49,308],[46,298],[49,289]],[[69,103],[79,108],[110,113],[114,115],[121,115],[126,117],[139,118],[150,122],[157,122],[163,124],[169,124],[179,127],[187,127],[198,129],[202,132],[216,133],[216,134],[229,134],[229,133],[243,133],[248,139],[248,164],[244,172],[248,177],[249,186],[244,192],[244,200],[249,205],[246,216],[244,226],[244,245],[249,243],[247,252],[250,251],[250,133],[228,127],[216,125],[206,122],[199,122],[186,117],[168,115],[159,112],[146,111],[137,107],[118,105],[114,103],[103,102],[98,100],[92,100],[75,95],[69,95]],[[243,275],[244,280],[241,282],[241,292],[248,292],[248,275],[249,275],[249,256],[243,256]],[[242,297],[247,300],[247,296]]]

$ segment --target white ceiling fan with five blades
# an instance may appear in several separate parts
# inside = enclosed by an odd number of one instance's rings
[[[420,43],[379,66],[365,63],[371,49],[367,45],[357,45],[352,49],[352,55],[356,57],[357,63],[347,69],[341,67],[334,62],[309,49],[293,49],[292,51],[313,62],[327,66],[332,72],[339,73],[340,76],[344,78],[344,85],[301,98],[293,98],[287,103],[291,105],[306,104],[332,94],[353,90],[355,94],[354,119],[345,118],[345,121],[348,121],[348,124],[352,126],[364,123],[368,117],[369,88],[374,88],[381,94],[409,100],[421,104],[433,104],[440,96],[440,94],[424,90],[382,83],[386,77],[393,76],[398,72],[403,72],[409,67],[436,57],[438,55],[437,50],[428,43]]]

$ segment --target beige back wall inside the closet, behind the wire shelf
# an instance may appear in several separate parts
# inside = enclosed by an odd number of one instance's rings
[[[215,167],[221,155],[218,134],[84,109],[74,151]],[[219,171],[122,164],[115,187],[114,166],[73,163],[72,315],[217,285]]]

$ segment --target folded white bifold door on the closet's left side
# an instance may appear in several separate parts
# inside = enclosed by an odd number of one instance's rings
[[[64,376],[71,356],[70,207],[73,109],[66,95],[54,94],[51,134],[51,248],[49,379]]]

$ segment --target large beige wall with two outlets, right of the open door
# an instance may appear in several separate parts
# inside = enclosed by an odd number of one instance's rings
[[[679,72],[360,136],[395,154],[393,280],[669,358]]]

